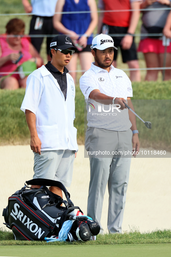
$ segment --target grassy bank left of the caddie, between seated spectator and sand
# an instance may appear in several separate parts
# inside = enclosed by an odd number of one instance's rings
[[[0,143],[28,143],[29,130],[20,110],[25,90],[0,91]],[[27,142],[28,141],[28,142]]]

